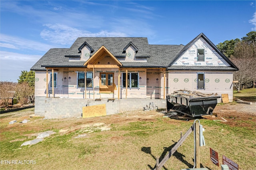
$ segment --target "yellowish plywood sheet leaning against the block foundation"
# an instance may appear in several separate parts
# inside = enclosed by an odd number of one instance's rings
[[[106,104],[83,107],[83,118],[107,115]]]

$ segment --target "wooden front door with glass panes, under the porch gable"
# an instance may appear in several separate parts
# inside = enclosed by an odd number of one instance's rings
[[[100,93],[114,93],[114,73],[100,73]]]

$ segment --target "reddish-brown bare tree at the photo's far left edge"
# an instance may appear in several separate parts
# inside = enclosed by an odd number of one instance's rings
[[[10,100],[14,97],[14,90],[17,83],[1,81],[0,82],[0,98],[1,105],[4,105],[5,110],[10,104]]]

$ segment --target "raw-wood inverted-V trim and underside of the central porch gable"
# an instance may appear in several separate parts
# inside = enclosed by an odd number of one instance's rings
[[[120,63],[120,61],[118,61],[118,59],[116,59],[116,57],[110,53],[110,51],[108,51],[108,49],[106,49],[106,47],[104,47],[104,45],[102,45],[100,47],[100,49],[98,49],[98,51],[96,51],[92,57],[90,57],[90,59],[88,59],[85,63],[84,66],[86,65],[96,65],[98,63],[98,61],[100,61],[103,57],[105,57],[105,55],[109,55],[112,59],[114,59],[114,61],[116,61],[116,65],[122,66],[122,63]]]

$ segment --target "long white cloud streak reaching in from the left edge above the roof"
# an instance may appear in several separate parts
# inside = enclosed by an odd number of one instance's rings
[[[33,40],[28,40],[24,38],[19,38],[15,36],[8,36],[5,34],[0,34],[1,36],[1,47],[6,47],[10,49],[29,49],[36,51],[48,51],[53,45],[48,45],[45,43],[36,42]]]

